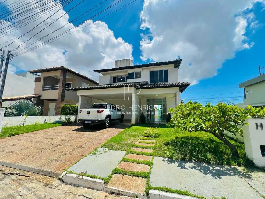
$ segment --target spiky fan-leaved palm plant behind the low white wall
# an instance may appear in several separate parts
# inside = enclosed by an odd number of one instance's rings
[[[36,101],[31,102],[26,99],[15,101],[6,110],[5,116],[40,116],[42,115],[42,107],[36,106]]]

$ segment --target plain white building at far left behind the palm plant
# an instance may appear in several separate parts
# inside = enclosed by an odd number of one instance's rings
[[[40,77],[39,75],[25,72],[7,74],[5,80],[5,88],[2,99],[2,107],[8,107],[11,103],[16,100],[26,97],[27,99],[32,99],[34,96],[34,79]]]

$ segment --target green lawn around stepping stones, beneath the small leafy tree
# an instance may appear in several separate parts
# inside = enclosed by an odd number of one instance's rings
[[[245,147],[242,142],[228,138],[237,148],[240,155],[238,158],[232,155],[232,151],[229,147],[210,133],[190,133],[179,129],[168,128],[166,125],[161,125],[160,128],[157,128],[157,133],[155,134],[159,137],[156,138],[157,141],[154,147],[141,146],[142,148],[152,148],[152,154],[131,151],[131,147],[135,147],[134,143],[141,138],[142,135],[146,134],[144,133],[146,128],[147,125],[131,126],[115,137],[112,137],[101,147],[127,151],[129,153],[167,157],[176,160],[246,167],[254,166],[253,162],[246,158]]]

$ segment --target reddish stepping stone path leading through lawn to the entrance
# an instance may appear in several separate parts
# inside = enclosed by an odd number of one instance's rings
[[[145,133],[148,133],[150,131],[156,131],[156,128],[147,128],[145,130]],[[150,138],[148,135],[143,135],[142,138]],[[154,146],[156,140],[145,140],[145,139],[139,139],[135,143],[135,145],[140,146]],[[149,143],[141,143],[141,142],[149,142]],[[145,152],[145,153],[152,153],[152,149],[148,148],[137,148],[133,147],[131,148],[132,151],[135,152]],[[152,161],[151,155],[138,155],[138,154],[127,154],[125,156],[127,159],[131,160],[140,160],[140,161]],[[132,171],[132,172],[149,172],[150,166],[146,164],[136,164],[133,162],[126,162],[122,161],[118,166],[118,169],[123,169],[126,171]],[[131,191],[136,194],[145,194],[145,186],[146,186],[146,179],[141,177],[135,177],[135,176],[128,176],[128,175],[121,175],[121,174],[114,174],[108,183],[108,186],[115,187],[118,189]]]

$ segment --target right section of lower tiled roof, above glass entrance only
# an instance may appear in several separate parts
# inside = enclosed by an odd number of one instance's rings
[[[179,91],[182,93],[190,85],[188,82],[178,82],[178,83],[153,83],[146,84],[141,86],[141,89],[150,89],[150,88],[175,88],[179,87]],[[139,88],[137,88],[139,89]]]

